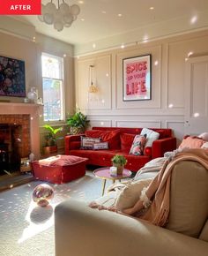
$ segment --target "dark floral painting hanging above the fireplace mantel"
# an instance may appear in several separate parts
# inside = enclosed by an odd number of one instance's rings
[[[0,56],[0,96],[26,97],[24,60]]]

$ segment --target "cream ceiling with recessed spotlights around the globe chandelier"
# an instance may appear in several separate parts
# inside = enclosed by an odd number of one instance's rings
[[[57,1],[53,0],[53,3],[57,4]],[[63,0],[59,1],[61,4]],[[49,0],[42,0],[42,4],[48,2]],[[36,32],[74,45],[92,44],[113,38],[115,35],[132,33],[141,27],[145,36],[148,34],[145,28],[162,23],[168,24],[170,20],[172,21],[170,32],[172,26],[178,26],[174,29],[175,33],[186,29],[186,23],[189,30],[191,26],[194,29],[208,25],[206,15],[204,19],[204,13],[208,11],[208,0],[83,0],[83,4],[79,4],[78,0],[64,0],[64,2],[70,5],[78,4],[81,11],[72,26],[64,27],[62,32],[57,32],[53,26],[42,23],[37,16],[18,16],[16,19],[35,26]],[[154,7],[154,10],[150,10],[150,7]],[[122,17],[118,17],[119,13]],[[191,23],[193,17],[196,17],[196,22]],[[121,41],[121,43],[125,42]],[[130,40],[128,42],[130,43]]]

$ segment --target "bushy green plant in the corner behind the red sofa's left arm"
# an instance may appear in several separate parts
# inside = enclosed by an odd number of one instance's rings
[[[71,134],[85,132],[89,122],[90,121],[86,119],[86,116],[79,110],[74,115],[67,118],[67,124],[70,126]]]

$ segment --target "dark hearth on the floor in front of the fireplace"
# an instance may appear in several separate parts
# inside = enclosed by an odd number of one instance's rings
[[[0,176],[0,192],[4,190],[11,189],[14,186],[18,186],[20,184],[26,184],[34,180],[33,174],[28,173],[21,173],[19,171],[11,173],[11,174],[4,174]]]

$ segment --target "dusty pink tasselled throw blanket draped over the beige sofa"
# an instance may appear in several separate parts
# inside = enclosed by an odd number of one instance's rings
[[[170,200],[170,179],[171,172],[177,162],[181,161],[194,161],[201,163],[205,169],[208,169],[208,151],[204,149],[186,149],[184,152],[177,153],[175,158],[169,162],[163,164],[160,172],[153,178],[151,184],[147,187],[145,195],[152,203],[144,211],[144,200],[137,200],[137,203],[128,209],[124,209],[124,215],[135,215],[139,218],[152,222],[157,226],[165,226],[168,220],[169,214],[169,200]],[[103,207],[98,206],[92,202],[90,207],[99,207],[100,209],[108,209],[116,212],[115,207]]]

